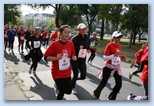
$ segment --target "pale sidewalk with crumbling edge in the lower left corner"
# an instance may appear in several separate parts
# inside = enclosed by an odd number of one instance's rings
[[[4,100],[28,100],[20,88],[22,80],[18,72],[11,71],[4,58]]]

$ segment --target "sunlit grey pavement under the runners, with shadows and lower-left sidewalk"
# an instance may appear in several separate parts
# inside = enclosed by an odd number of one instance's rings
[[[40,61],[37,68],[37,76],[29,75],[28,70],[31,61],[24,61],[23,56],[17,50],[17,39],[15,40],[14,54],[4,53],[4,99],[5,100],[56,100],[54,81],[50,73],[51,63]],[[42,47],[42,51],[45,49]],[[89,54],[87,55],[89,57]],[[96,55],[93,65],[87,64],[87,78],[77,81],[77,95],[64,95],[64,100],[95,100],[92,96],[93,90],[100,82],[97,72],[104,66],[101,55]],[[129,80],[128,75],[136,68],[129,68],[130,64],[122,62],[123,77],[122,88],[117,100],[126,100],[133,92],[137,95],[144,95],[142,82],[138,77]],[[109,93],[114,86],[114,78],[109,79],[107,86],[101,93],[100,100],[107,100]]]

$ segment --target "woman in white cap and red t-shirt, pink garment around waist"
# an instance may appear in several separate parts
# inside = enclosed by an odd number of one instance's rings
[[[94,97],[99,99],[101,91],[106,86],[110,75],[112,74],[115,78],[115,86],[112,89],[112,92],[108,96],[109,100],[116,100],[117,94],[119,93],[122,87],[122,71],[120,68],[121,59],[126,59],[125,56],[121,55],[121,45],[120,39],[122,37],[122,33],[119,31],[115,31],[112,34],[112,42],[108,43],[103,59],[105,61],[105,66],[103,68],[103,78],[97,88],[94,90]]]

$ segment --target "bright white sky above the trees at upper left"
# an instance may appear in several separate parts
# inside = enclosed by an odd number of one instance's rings
[[[50,13],[50,14],[52,14],[53,11],[54,11],[54,9],[52,7],[46,8],[45,10],[43,10],[43,9],[34,10],[31,7],[26,6],[26,5],[21,6],[22,15],[26,15],[28,13]]]

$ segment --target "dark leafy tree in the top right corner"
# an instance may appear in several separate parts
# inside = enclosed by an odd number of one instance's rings
[[[131,32],[129,47],[135,45],[136,35],[140,31],[148,31],[148,4],[129,4],[126,5],[128,11],[124,14],[125,26]]]

